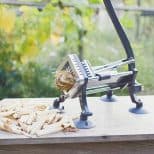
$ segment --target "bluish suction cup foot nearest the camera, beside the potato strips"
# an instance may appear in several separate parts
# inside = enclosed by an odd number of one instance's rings
[[[75,126],[79,129],[90,129],[95,127],[95,125],[89,120],[77,119],[74,121]]]

